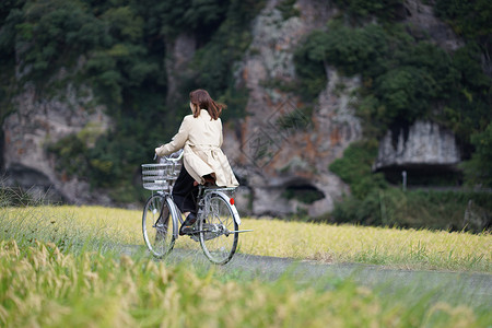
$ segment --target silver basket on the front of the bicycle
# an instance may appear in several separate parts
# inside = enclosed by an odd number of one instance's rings
[[[142,183],[147,190],[171,190],[181,169],[180,162],[142,164]]]

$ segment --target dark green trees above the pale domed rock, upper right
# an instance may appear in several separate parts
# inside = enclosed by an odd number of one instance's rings
[[[469,159],[478,149],[473,140],[479,137],[473,136],[482,133],[492,119],[492,79],[482,68],[482,57],[489,58],[492,5],[488,1],[437,2],[435,11],[466,40],[454,52],[412,36],[396,22],[401,1],[337,2],[347,16],[311,34],[296,51],[302,95],[313,99],[325,87],[326,66],[345,75],[361,74],[363,86],[354,107],[367,139],[415,119],[431,119],[456,133]],[[377,22],[371,22],[371,16]],[[476,165],[480,171],[492,166],[487,156],[473,159],[481,163]]]

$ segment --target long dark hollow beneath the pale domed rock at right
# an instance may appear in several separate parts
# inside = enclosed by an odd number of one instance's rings
[[[378,172],[388,183],[408,187],[460,187],[464,179],[462,172],[454,165],[394,165]]]

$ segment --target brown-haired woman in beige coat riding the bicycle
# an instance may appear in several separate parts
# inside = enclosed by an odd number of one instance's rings
[[[185,116],[179,131],[169,143],[155,149],[161,157],[184,149],[184,166],[173,187],[173,200],[186,216],[179,235],[192,232],[191,225],[197,220],[198,185],[239,185],[221,150],[220,115],[226,106],[215,103],[207,91],[200,89],[190,92],[189,99],[192,115]]]

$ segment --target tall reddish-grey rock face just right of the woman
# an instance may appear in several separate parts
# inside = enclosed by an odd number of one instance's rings
[[[297,1],[298,16],[288,20],[268,1],[253,27],[254,39],[237,70],[241,83],[249,90],[247,118],[237,133],[229,132],[224,151],[236,174],[247,185],[250,204],[241,209],[254,215],[308,214],[330,211],[348,187],[328,165],[361,138],[361,127],[350,107],[349,94],[360,85],[359,78],[341,78],[326,67],[328,84],[312,110],[296,96],[269,82],[289,83],[295,79],[293,51],[315,28],[337,13],[317,1]],[[337,92],[342,85],[343,91]],[[239,136],[239,138],[236,137]],[[321,195],[305,203],[289,198],[286,191]]]

